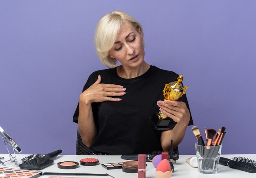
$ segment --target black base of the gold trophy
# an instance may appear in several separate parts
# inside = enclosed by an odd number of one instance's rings
[[[155,130],[169,130],[169,123],[171,118],[167,117],[166,119],[159,119],[158,112],[154,112],[151,118],[148,118],[150,123],[153,125]]]

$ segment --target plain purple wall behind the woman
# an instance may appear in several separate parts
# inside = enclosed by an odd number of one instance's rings
[[[115,9],[141,22],[146,62],[184,75],[201,133],[225,126],[222,154],[255,154],[255,0],[2,0],[0,126],[22,153],[75,154],[79,95],[105,68],[94,29]],[[191,128],[180,154],[195,154]]]

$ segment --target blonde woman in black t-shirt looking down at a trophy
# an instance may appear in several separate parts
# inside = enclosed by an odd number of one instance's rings
[[[93,72],[79,98],[73,121],[83,143],[99,154],[145,154],[176,147],[193,121],[184,94],[164,101],[164,84],[177,81],[172,71],[144,60],[144,35],[130,15],[104,15],[95,31],[95,48],[109,69]],[[170,130],[155,130],[148,118],[162,111],[173,119]]]

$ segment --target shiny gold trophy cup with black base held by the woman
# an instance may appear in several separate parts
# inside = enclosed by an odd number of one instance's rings
[[[177,78],[177,81],[173,81],[169,84],[165,84],[164,87],[164,100],[177,101],[183,94],[185,94],[188,86],[182,87],[183,75]],[[161,111],[155,112],[152,118],[149,118],[156,130],[169,130],[169,123],[171,118],[168,118]]]

